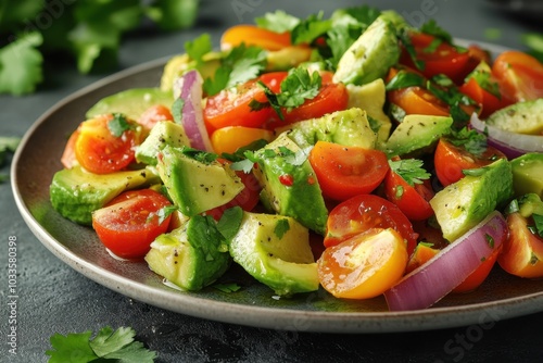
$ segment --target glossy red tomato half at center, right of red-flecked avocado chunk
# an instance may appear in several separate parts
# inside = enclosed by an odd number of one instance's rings
[[[323,195],[339,201],[371,192],[390,168],[382,151],[327,141],[315,143],[308,161]]]

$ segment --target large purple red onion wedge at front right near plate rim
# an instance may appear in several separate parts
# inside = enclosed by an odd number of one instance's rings
[[[464,281],[507,235],[503,215],[494,211],[427,263],[384,292],[390,311],[426,309]],[[493,246],[492,246],[493,245]]]

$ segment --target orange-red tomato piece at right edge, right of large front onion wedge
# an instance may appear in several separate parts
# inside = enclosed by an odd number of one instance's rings
[[[515,276],[541,278],[543,238],[532,234],[528,225],[533,225],[532,218],[526,218],[518,212],[507,216],[509,236],[504,241],[497,262],[503,270]]]

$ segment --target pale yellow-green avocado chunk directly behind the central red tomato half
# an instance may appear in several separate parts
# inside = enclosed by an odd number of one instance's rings
[[[300,121],[290,127],[289,138],[301,147],[329,141],[374,149],[377,138],[369,126],[366,111],[356,108]]]

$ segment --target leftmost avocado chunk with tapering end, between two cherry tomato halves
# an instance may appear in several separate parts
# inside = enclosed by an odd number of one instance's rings
[[[63,217],[83,225],[92,224],[92,212],[121,192],[161,183],[151,168],[92,174],[80,166],[53,175],[49,187],[51,204]]]

